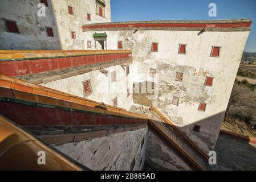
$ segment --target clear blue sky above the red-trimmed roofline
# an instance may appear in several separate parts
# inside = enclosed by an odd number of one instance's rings
[[[208,15],[212,2],[217,5],[217,17]],[[256,52],[255,0],[111,0],[111,13],[112,22],[251,18],[245,51]]]

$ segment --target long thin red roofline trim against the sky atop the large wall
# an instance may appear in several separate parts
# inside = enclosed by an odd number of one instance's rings
[[[83,30],[94,28],[140,28],[140,27],[172,27],[172,28],[239,28],[250,27],[249,23],[124,23],[86,25]]]

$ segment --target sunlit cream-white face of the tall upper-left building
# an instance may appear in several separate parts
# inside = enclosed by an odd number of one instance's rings
[[[105,18],[103,18],[96,14],[95,0],[52,0],[62,49],[80,50],[84,46],[87,47],[87,42],[84,42],[82,26],[111,22],[110,0],[106,0],[105,5]],[[73,7],[74,15],[68,14],[68,6]],[[91,21],[87,20],[87,13],[91,14]],[[72,39],[72,31],[76,32],[76,39]]]

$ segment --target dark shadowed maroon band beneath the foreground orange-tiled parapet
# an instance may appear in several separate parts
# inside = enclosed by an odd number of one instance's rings
[[[147,123],[146,119],[80,113],[11,102],[0,102],[0,114],[18,125],[128,125]]]

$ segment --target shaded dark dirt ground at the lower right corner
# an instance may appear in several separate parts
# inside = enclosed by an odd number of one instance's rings
[[[214,150],[222,171],[256,171],[256,145],[220,134]]]

